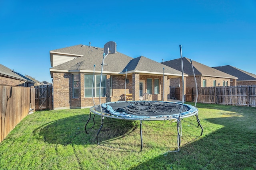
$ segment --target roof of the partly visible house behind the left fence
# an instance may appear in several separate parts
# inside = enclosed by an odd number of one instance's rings
[[[15,72],[14,70],[11,70],[10,68],[8,68],[2,64],[0,64],[0,75],[8,77],[8,78],[16,79],[16,80],[33,82],[29,78],[26,78],[22,74]]]

